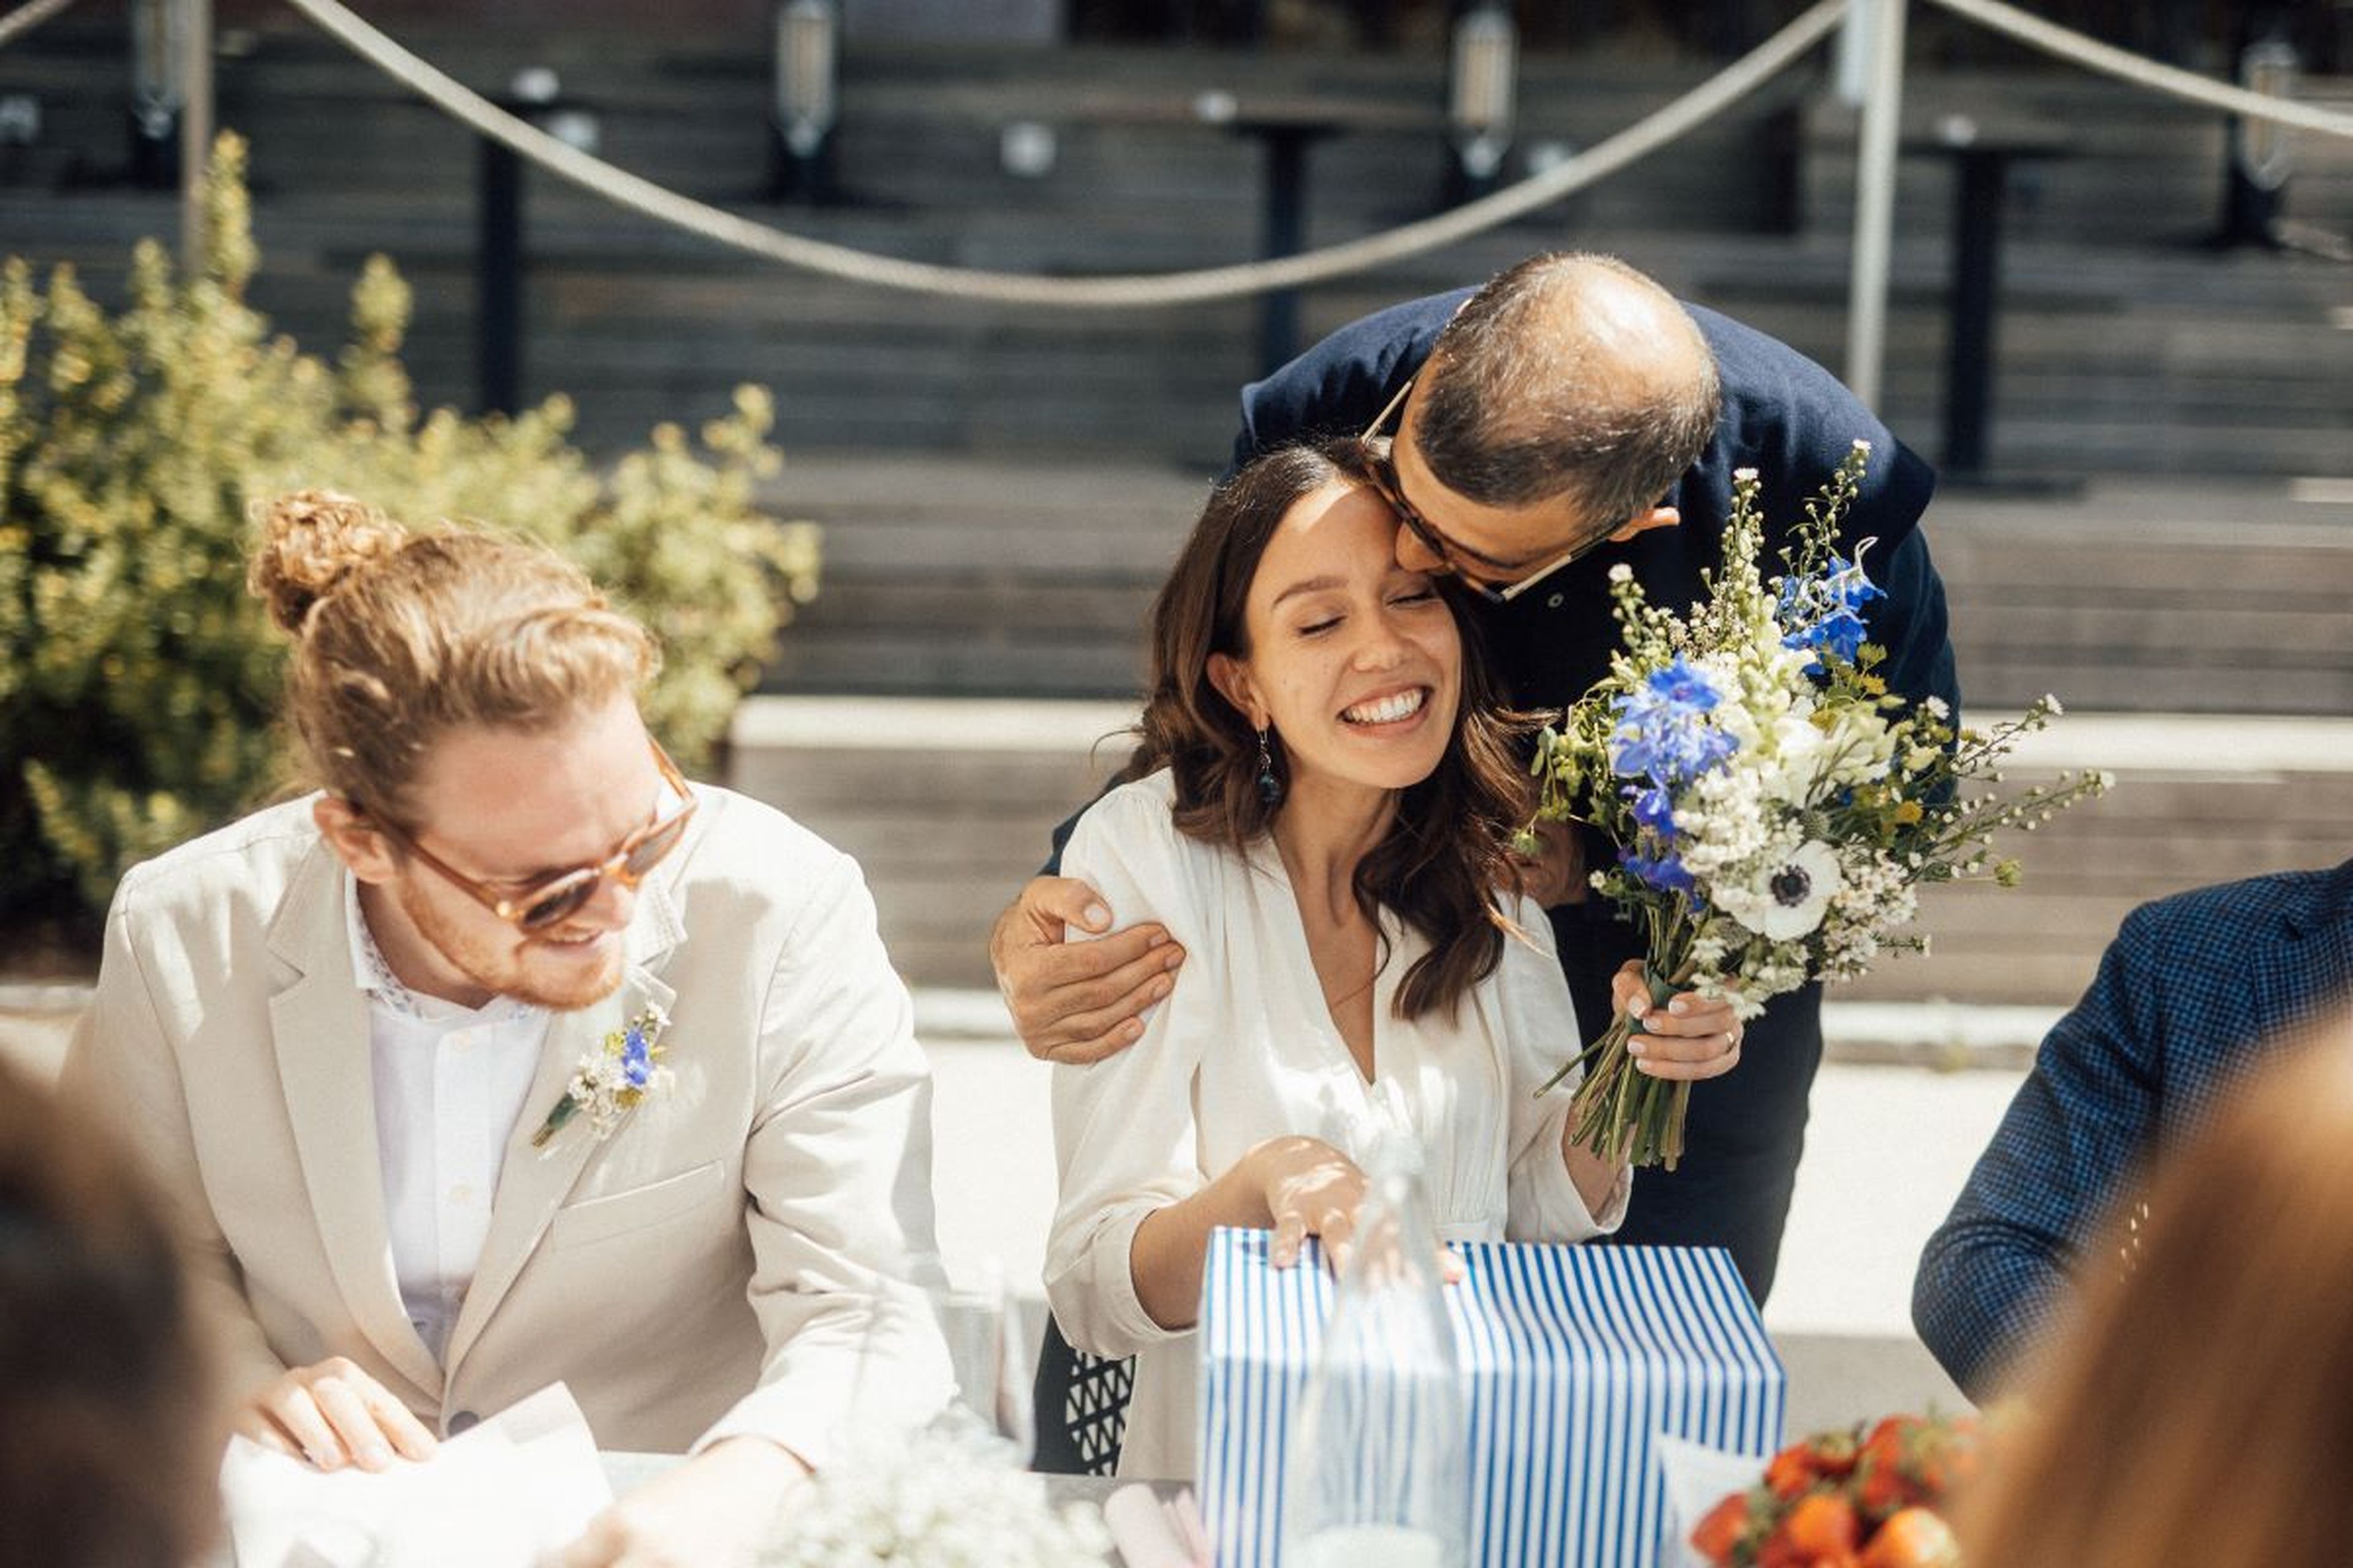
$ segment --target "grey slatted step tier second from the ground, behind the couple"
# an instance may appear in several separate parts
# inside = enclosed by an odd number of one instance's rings
[[[826,529],[826,585],[765,686],[1127,701],[1136,628],[1209,473],[793,461],[774,503]],[[2146,477],[2031,501],[1948,489],[1927,529],[1969,705],[2057,691],[2085,710],[2353,715],[2353,491]]]

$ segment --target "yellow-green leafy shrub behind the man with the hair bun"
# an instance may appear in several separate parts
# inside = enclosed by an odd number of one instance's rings
[[[664,642],[649,722],[680,759],[725,731],[795,599],[816,531],[753,505],[769,397],[675,425],[609,470],[572,407],[419,416],[400,364],[409,289],[372,259],[339,367],[249,303],[245,148],[214,148],[202,275],[136,249],[111,315],[56,268],[0,273],[0,914],[80,919],[115,877],[292,783],[285,637],[245,592],[247,505],[341,489],[412,524],[546,538]]]

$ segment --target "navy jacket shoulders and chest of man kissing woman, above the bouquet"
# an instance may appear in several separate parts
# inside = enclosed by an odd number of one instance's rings
[[[1355,435],[1379,416],[1407,376],[1428,360],[1438,331],[1471,289],[1407,301],[1341,327],[1266,381],[1242,388],[1242,433],[1233,465],[1297,440]],[[1920,538],[1920,512],[1937,475],[1887,433],[1854,393],[1788,343],[1701,306],[1685,306],[1715,353],[1725,411],[1715,440],[1675,484],[1668,505],[1682,527],[1649,529],[1602,545],[1511,604],[1473,604],[1487,651],[1511,698],[1562,708],[1609,672],[1619,646],[1609,614],[1609,567],[1628,562],[1654,604],[1675,611],[1699,599],[1704,569],[1722,555],[1732,512],[1732,470],[1755,468],[1767,524],[1765,571],[1777,569],[1781,531],[1847,456],[1871,442],[1871,470],[1842,538],[1878,538],[1864,559],[1887,597],[1868,611],[1873,642],[1887,649],[1887,684],[1913,701],[1937,693],[1960,712],[1944,583]]]

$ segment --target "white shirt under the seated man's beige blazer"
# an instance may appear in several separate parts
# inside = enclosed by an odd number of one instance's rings
[[[499,1164],[527,1110],[548,1011],[508,997],[468,1009],[402,985],[367,929],[348,870],[344,912],[351,973],[367,992],[393,1279],[416,1338],[440,1361],[482,1258]]]

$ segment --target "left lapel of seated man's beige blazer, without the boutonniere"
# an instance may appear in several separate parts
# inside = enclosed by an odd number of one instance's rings
[[[344,863],[327,844],[313,846],[271,922],[271,952],[299,971],[271,997],[271,1044],[334,1286],[367,1342],[426,1401],[438,1401],[440,1368],[416,1338],[393,1276],[367,999],[351,973],[344,896]]]

